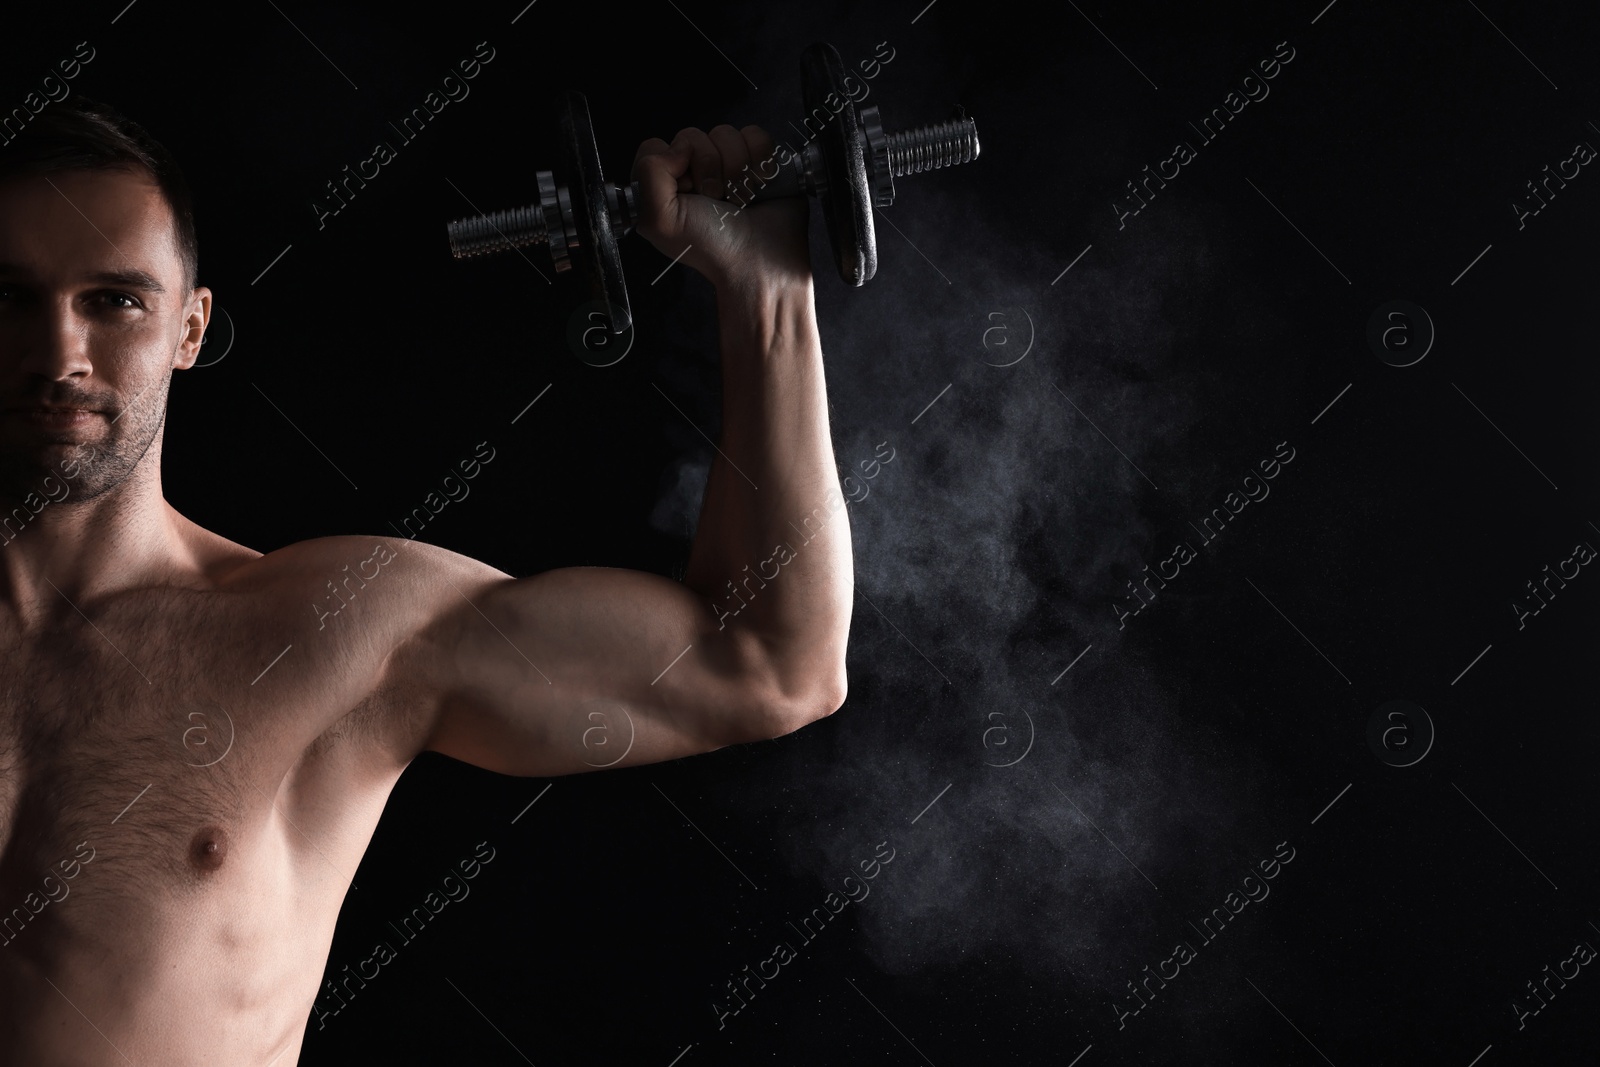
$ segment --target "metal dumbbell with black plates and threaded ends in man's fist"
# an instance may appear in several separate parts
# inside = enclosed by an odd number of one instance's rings
[[[765,179],[770,166],[750,168],[754,176],[744,181],[728,176],[730,187],[739,190],[733,203],[742,208],[773,197],[816,197],[838,277],[862,285],[878,266],[872,208],[894,203],[896,178],[978,158],[978,126],[957,112],[950,122],[883,133],[877,106],[858,110],[850,99],[845,62],[826,42],[805,50],[800,86],[806,126],[819,114],[826,122],[798,152],[779,149],[771,179]],[[563,94],[560,131],[562,163],[576,186],[557,186],[552,171],[538,171],[538,203],[451,222],[450,250],[466,259],[544,245],[557,272],[578,267],[590,299],[606,309],[611,333],[624,333],[634,315],[616,238],[638,226],[638,182],[619,187],[605,181],[582,93]]]

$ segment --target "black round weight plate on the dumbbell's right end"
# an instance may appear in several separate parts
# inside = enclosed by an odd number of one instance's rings
[[[800,93],[808,126],[829,117],[818,136],[827,190],[822,219],[834,246],[838,277],[861,285],[878,269],[878,245],[872,229],[872,189],[867,184],[866,141],[856,104],[845,91],[845,61],[827,42],[816,42],[800,56]]]

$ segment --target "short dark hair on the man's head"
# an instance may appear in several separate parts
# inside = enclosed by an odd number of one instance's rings
[[[117,109],[86,96],[51,102],[0,147],[0,181],[66,171],[149,171],[173,211],[184,282],[194,290],[200,272],[189,182],[166,147]]]

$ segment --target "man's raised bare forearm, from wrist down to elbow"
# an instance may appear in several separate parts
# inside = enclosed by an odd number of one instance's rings
[[[790,696],[842,683],[850,522],[827,424],[811,280],[717,286],[723,430],[685,584],[754,633]]]

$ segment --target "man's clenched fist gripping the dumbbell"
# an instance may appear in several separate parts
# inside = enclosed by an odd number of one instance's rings
[[[638,232],[664,256],[682,253],[718,291],[808,285],[806,198],[749,203],[762,176],[774,173],[771,160],[773,139],[760,126],[645,141],[634,157]]]

